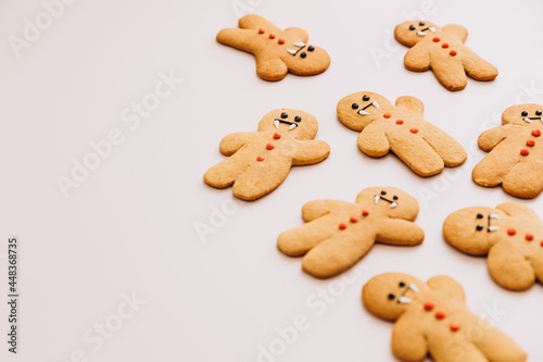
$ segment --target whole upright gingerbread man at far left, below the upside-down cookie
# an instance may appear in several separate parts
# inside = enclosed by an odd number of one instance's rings
[[[254,200],[275,190],[292,165],[314,164],[330,153],[328,143],[313,140],[317,120],[310,113],[281,109],[266,114],[257,133],[235,133],[220,141],[228,159],[207,170],[204,182],[225,188],[240,199]]]

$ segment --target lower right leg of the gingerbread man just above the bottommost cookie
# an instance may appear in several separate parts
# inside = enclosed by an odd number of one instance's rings
[[[361,240],[364,237],[367,240]],[[344,235],[336,234],[310,250],[302,259],[302,269],[320,278],[333,276],[352,266],[372,245],[374,240],[369,235],[351,235],[345,238]]]

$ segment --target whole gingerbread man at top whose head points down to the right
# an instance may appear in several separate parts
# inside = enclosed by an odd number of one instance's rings
[[[256,73],[265,80],[281,80],[288,72],[296,75],[323,73],[330,65],[328,53],[307,45],[307,32],[299,27],[281,30],[258,15],[239,20],[238,29],[223,29],[217,41],[253,53]]]

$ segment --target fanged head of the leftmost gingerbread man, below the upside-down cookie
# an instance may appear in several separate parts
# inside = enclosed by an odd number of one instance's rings
[[[281,132],[295,139],[313,139],[317,130],[318,123],[313,115],[293,109],[272,111],[258,123],[258,132]]]

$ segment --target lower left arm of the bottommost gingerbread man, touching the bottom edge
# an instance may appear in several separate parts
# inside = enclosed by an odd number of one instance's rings
[[[428,342],[418,321],[401,315],[392,328],[392,352],[403,361],[422,361],[428,353]]]

